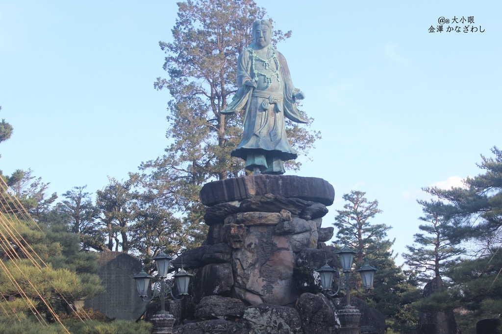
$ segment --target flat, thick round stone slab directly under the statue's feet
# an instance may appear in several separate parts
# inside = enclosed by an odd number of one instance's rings
[[[200,191],[204,205],[240,201],[254,196],[274,194],[333,204],[335,190],[326,180],[296,175],[250,175],[206,183]]]

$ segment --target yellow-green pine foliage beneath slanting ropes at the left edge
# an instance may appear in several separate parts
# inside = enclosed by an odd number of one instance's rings
[[[16,314],[36,309],[52,318],[54,309],[71,311],[74,300],[102,292],[101,281],[93,274],[94,254],[79,252],[78,236],[52,232],[15,215],[1,218],[2,309]]]

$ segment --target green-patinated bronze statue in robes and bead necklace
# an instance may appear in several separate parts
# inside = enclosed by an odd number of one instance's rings
[[[286,137],[284,117],[308,123],[296,108],[305,95],[294,88],[284,56],[272,47],[268,20],[253,24],[253,43],[237,61],[238,90],[222,114],[244,109],[242,140],[231,155],[246,161],[257,174],[284,174],[285,160],[298,157]]]

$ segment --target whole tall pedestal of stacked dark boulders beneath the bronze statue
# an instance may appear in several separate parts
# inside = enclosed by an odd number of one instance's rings
[[[315,269],[338,266],[321,227],[334,200],[323,179],[257,175],[210,182],[204,244],[172,263],[193,269],[193,317],[175,333],[334,333],[336,307]],[[184,315],[183,317],[187,317]]]

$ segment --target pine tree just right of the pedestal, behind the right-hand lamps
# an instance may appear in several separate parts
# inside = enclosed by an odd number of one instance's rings
[[[378,201],[368,201],[362,191],[344,194],[344,210],[337,210],[333,224],[338,230],[334,241],[338,248],[347,245],[357,251],[354,257],[356,267],[369,264],[378,268],[374,276],[374,290],[359,297],[386,317],[389,332],[409,330],[418,321],[418,313],[411,304],[418,300],[421,291],[417,287],[415,276],[404,272],[403,266],[396,265],[393,254],[394,240],[387,238],[391,228],[385,224],[373,224],[370,219],[382,212]],[[350,284],[361,286],[360,279],[351,275]]]

